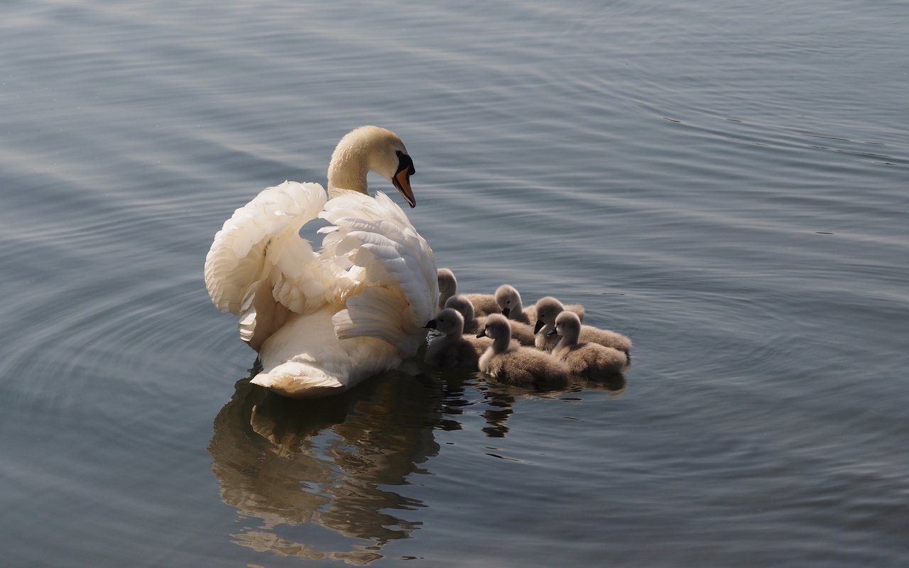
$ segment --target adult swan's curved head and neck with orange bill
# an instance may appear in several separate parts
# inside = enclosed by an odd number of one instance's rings
[[[328,164],[328,192],[333,188],[366,192],[366,173],[372,170],[395,185],[407,204],[416,206],[410,176],[414,161],[398,135],[378,126],[360,126],[347,133]]]

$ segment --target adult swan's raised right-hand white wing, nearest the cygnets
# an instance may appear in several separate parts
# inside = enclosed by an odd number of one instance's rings
[[[435,256],[407,215],[388,196],[348,193],[331,199],[321,217],[323,254],[349,266],[359,294],[333,317],[339,339],[375,337],[409,350],[409,341],[435,314]],[[327,262],[327,261],[326,261]],[[422,330],[422,331],[421,331]]]

